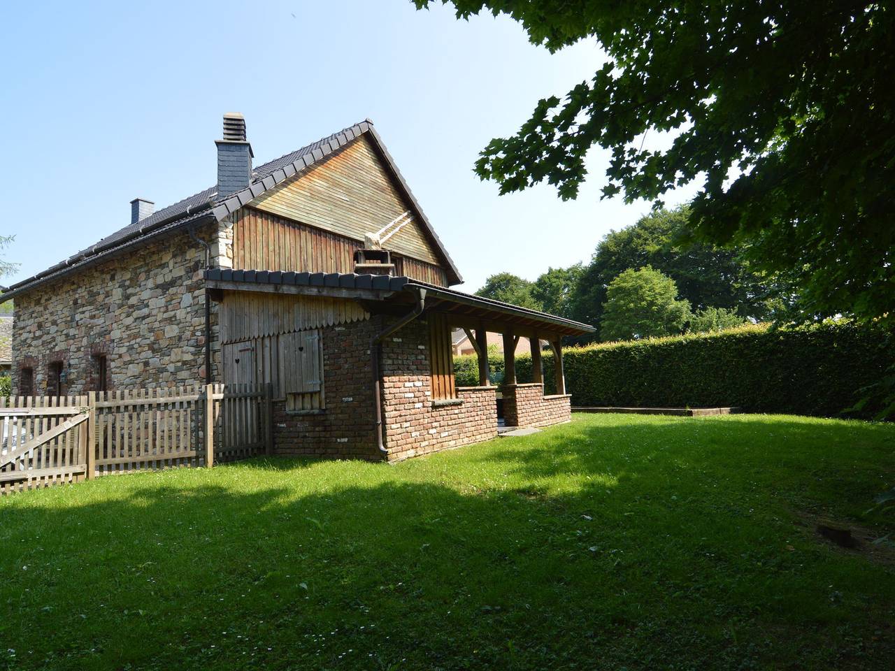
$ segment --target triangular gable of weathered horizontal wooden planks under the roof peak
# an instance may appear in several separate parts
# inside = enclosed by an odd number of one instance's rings
[[[364,234],[379,231],[412,209],[366,136],[319,166],[311,166],[262,193],[249,206],[359,242]],[[444,266],[419,221],[405,225],[384,246],[412,259]]]

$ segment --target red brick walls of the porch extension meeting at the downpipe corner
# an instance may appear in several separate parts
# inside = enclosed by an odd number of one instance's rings
[[[372,404],[370,342],[389,319],[321,329],[325,410],[289,413],[274,403],[277,454],[379,459]],[[497,435],[496,388],[460,387],[454,401],[432,403],[429,332],[424,321],[382,345],[382,421],[389,461],[469,445]]]

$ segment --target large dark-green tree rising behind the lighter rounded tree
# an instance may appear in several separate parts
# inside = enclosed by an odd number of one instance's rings
[[[726,308],[758,321],[786,317],[793,292],[755,272],[741,249],[683,242],[690,233],[686,206],[653,212],[610,231],[597,245],[572,298],[573,319],[599,327],[609,282],[627,268],[652,266],[671,277],[695,310]]]

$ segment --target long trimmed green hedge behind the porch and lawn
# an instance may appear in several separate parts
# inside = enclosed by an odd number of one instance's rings
[[[714,334],[680,335],[571,347],[563,352],[566,386],[576,406],[738,406],[746,412],[835,416],[893,363],[895,336],[833,324],[797,329],[746,325]],[[547,391],[553,358],[543,356]],[[490,358],[495,373],[503,356]],[[475,356],[456,357],[456,382],[478,384]],[[528,354],[516,378],[532,379]],[[866,407],[853,416],[872,417]]]

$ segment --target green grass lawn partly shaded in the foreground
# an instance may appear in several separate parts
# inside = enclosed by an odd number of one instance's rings
[[[576,415],[0,500],[0,668],[880,668],[895,426]]]

